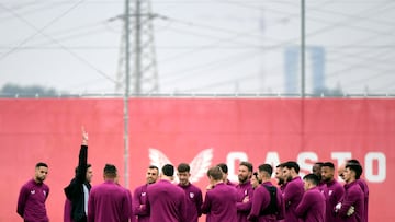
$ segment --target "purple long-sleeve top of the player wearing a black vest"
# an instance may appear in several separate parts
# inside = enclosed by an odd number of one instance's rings
[[[282,199],[280,188],[276,188],[276,207],[278,214],[263,214],[262,212],[269,207],[271,197],[269,190],[264,186],[273,186],[271,182],[264,182],[253,190],[251,200],[251,211],[248,215],[249,221],[257,222],[274,222],[284,219],[285,206]]]

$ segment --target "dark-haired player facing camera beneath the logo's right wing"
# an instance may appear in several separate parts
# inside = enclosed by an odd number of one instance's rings
[[[177,176],[180,183],[178,184],[185,192],[187,198],[187,218],[188,222],[198,222],[199,217],[202,215],[202,190],[191,184],[191,167],[187,163],[180,163],[177,167]]]

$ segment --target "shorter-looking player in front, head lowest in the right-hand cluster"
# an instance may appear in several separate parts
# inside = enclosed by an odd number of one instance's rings
[[[296,214],[305,222],[325,221],[325,196],[319,190],[319,178],[316,174],[307,174],[303,177],[305,192],[296,207]]]

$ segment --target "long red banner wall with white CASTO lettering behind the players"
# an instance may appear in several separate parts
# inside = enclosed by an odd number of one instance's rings
[[[93,185],[105,163],[124,184],[121,98],[0,100],[0,221],[19,221],[16,199],[36,162],[47,162],[52,221],[63,221],[63,188],[78,163],[83,125],[89,132]],[[295,160],[301,174],[317,161],[358,159],[370,187],[369,221],[391,221],[395,185],[395,100],[390,98],[131,98],[128,184],[144,184],[149,164],[190,163],[204,189],[206,168],[219,162],[237,180],[238,163],[258,166]]]

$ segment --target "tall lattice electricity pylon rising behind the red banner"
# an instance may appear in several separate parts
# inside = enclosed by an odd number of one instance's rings
[[[128,3],[129,1],[126,0],[127,10],[125,9],[125,14],[122,16],[124,28],[121,36],[115,92],[121,93],[129,87],[127,92],[135,95],[156,93],[159,85],[153,20],[157,15],[151,13],[150,0],[132,1],[133,3]],[[126,65],[126,60],[129,66]]]

